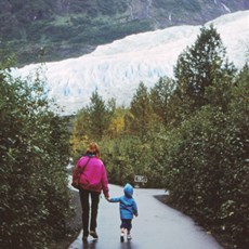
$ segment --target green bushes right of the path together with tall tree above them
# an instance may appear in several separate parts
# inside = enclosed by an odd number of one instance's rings
[[[165,134],[165,183],[181,210],[245,248],[248,66],[236,76],[224,58],[212,26],[179,57],[169,103],[178,121]]]

